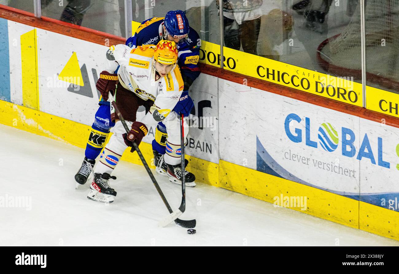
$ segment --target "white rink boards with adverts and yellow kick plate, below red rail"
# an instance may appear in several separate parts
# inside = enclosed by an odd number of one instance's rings
[[[107,41],[2,18],[0,32],[0,122],[85,147]],[[284,206],[399,239],[399,128],[210,74],[190,90],[186,152],[198,181],[271,203],[301,197],[306,207]],[[148,160],[153,137],[141,145]]]

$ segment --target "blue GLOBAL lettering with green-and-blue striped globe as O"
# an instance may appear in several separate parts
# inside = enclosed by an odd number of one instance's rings
[[[391,168],[391,163],[383,160],[383,138],[377,137],[377,146],[371,146],[371,134],[364,134],[364,136],[356,136],[355,132],[350,128],[342,126],[340,130],[328,123],[322,123],[318,128],[318,142],[312,140],[310,132],[313,132],[314,127],[312,120],[305,117],[305,128],[300,125],[302,119],[295,113],[290,113],[286,116],[284,121],[285,134],[294,143],[304,142],[310,148],[318,148],[319,146],[327,151],[334,152],[338,150],[342,156],[356,157],[357,160],[367,158],[373,165],[382,166],[384,168]],[[290,129],[294,127],[293,129]],[[356,149],[354,142],[360,139],[360,148]],[[340,142],[341,141],[341,142]],[[339,146],[341,143],[341,146]],[[399,154],[398,154],[399,155]]]

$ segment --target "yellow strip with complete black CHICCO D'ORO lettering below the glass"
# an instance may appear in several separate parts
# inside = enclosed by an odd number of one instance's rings
[[[220,67],[219,45],[202,41],[199,52],[199,62]],[[363,106],[362,86],[350,78],[331,76],[228,47],[223,47],[223,55],[223,68],[226,70],[335,101]]]

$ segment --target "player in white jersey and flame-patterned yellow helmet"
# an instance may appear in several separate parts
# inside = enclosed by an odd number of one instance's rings
[[[113,96],[131,130],[126,134],[116,114],[111,113],[111,119],[116,122],[114,134],[94,169],[94,179],[87,197],[111,203],[117,192],[109,186],[109,179],[116,179],[111,173],[124,150],[132,146],[132,142],[140,144],[148,133],[148,128],[158,122],[163,122],[168,129],[167,153],[164,156],[164,161],[168,165],[168,176],[171,181],[180,181],[182,176],[180,115],[172,110],[179,100],[185,98],[180,98],[184,83],[177,66],[178,50],[173,41],[161,40],[156,46],[143,45],[135,49],[122,44],[111,46],[107,52],[107,59],[107,70],[101,72],[97,87],[103,97],[108,97],[108,91],[113,93],[115,84],[119,81]],[[148,112],[140,121],[136,121],[139,106],[144,106]],[[187,136],[186,122],[184,122],[184,132]],[[185,179],[186,185],[190,183],[195,185],[194,174],[186,171]]]

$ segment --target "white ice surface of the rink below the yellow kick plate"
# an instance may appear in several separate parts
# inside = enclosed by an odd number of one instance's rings
[[[31,209],[0,207],[1,246],[341,246],[399,242],[358,229],[198,183],[186,188],[181,219],[197,219],[197,233],[174,224],[159,228],[168,215],[142,166],[121,162],[111,185],[115,202],[86,198],[89,183],[75,190],[74,175],[84,150],[63,142],[0,125],[0,197],[28,197]],[[181,187],[156,175],[172,209]]]

